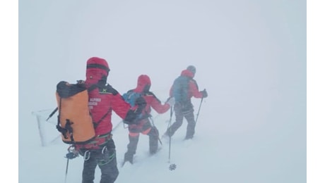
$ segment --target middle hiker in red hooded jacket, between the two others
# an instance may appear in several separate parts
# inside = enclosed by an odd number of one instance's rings
[[[129,125],[129,144],[127,145],[127,151],[124,154],[124,163],[133,163],[134,154],[136,153],[136,147],[138,145],[138,139],[140,133],[146,134],[149,137],[149,151],[150,154],[154,154],[158,150],[158,129],[150,123],[150,112],[153,108],[157,113],[165,113],[170,109],[170,106],[174,105],[175,99],[169,98],[166,103],[162,104],[161,101],[150,92],[151,81],[148,75],[140,75],[138,77],[138,83],[135,89],[129,90],[123,95],[126,101],[132,104],[132,96],[142,96],[146,100],[146,108],[142,111],[141,119],[137,124]]]

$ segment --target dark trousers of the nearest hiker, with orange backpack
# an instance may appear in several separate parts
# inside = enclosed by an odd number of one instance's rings
[[[113,183],[119,175],[113,139],[110,139],[102,149],[90,150],[88,152],[90,153],[83,154],[85,161],[83,163],[82,183],[93,183],[97,165],[102,172],[100,183]],[[89,159],[87,160],[88,157]]]

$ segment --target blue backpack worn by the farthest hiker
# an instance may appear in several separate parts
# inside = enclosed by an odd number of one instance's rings
[[[172,84],[172,96],[175,97],[175,102],[188,101],[189,93],[189,77],[179,76]]]

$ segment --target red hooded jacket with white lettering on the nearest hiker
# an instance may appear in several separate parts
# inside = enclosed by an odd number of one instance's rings
[[[122,96],[110,84],[106,84],[107,76],[110,71],[105,59],[93,57],[87,61],[86,87],[89,89],[90,113],[93,122],[97,123],[95,134],[107,134],[112,131],[112,111],[120,118],[126,118],[131,106],[126,103]],[[94,86],[95,89],[91,90]]]

